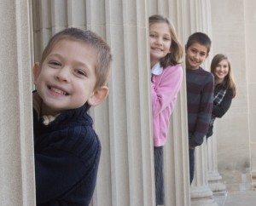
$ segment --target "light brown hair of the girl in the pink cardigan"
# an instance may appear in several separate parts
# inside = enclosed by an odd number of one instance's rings
[[[169,31],[172,37],[172,43],[170,47],[171,53],[166,54],[166,56],[160,60],[160,65],[166,67],[169,65],[175,66],[180,64],[183,57],[183,46],[178,42],[176,29],[173,26],[172,21],[159,14],[150,16],[148,20],[149,28],[155,23],[166,23],[166,25],[169,27]]]

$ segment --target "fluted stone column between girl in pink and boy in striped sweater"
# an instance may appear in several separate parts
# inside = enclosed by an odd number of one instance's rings
[[[176,27],[178,38],[184,45],[184,41],[186,41],[184,33],[187,25],[184,24],[183,17],[187,15],[185,12],[187,1],[151,0],[148,6],[149,15],[162,14],[172,20]],[[172,113],[168,140],[166,146],[164,146],[166,206],[190,205],[186,102],[185,66],[183,64],[183,84]]]

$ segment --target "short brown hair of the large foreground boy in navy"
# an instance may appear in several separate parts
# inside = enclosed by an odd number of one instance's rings
[[[49,43],[42,54],[40,64],[43,64],[45,58],[49,55],[55,44],[62,39],[70,39],[73,41],[86,43],[92,49],[94,49],[93,52],[96,54],[95,72],[97,77],[95,89],[107,85],[111,70],[112,54],[110,52],[108,43],[106,43],[102,37],[98,36],[93,31],[84,31],[79,28],[67,28],[56,33],[49,39]]]

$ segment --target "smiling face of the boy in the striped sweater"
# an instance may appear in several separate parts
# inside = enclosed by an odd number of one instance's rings
[[[206,46],[200,43],[192,43],[189,48],[186,48],[186,67],[196,70],[207,57],[208,49]]]

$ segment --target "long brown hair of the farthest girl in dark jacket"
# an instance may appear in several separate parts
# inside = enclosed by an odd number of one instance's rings
[[[212,63],[211,63],[211,72],[214,75],[214,77],[216,78],[215,75],[215,69],[218,66],[218,63],[222,60],[227,60],[228,65],[229,65],[229,72],[227,74],[226,77],[224,77],[224,87],[226,89],[231,89],[232,93],[233,93],[233,98],[236,96],[236,84],[234,82],[234,78],[233,78],[233,74],[232,74],[232,69],[231,69],[231,64],[230,64],[230,60],[229,58],[224,55],[224,54],[216,54],[213,59],[212,59]]]

